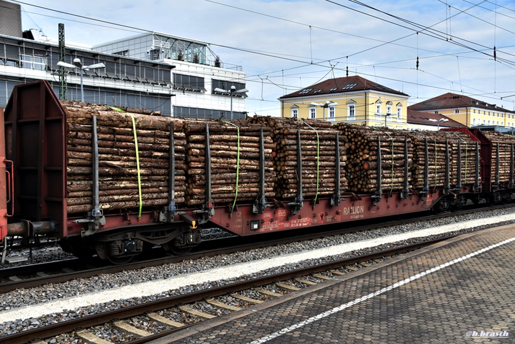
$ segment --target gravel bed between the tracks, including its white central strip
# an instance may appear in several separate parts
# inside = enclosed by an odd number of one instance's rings
[[[89,279],[49,284],[3,294],[0,301],[0,336],[36,328],[43,324],[139,302],[157,300],[250,278],[291,270],[334,258],[386,248],[392,242],[409,242],[413,237],[488,228],[496,223],[513,223],[513,208],[477,212],[451,218],[419,221],[367,232],[329,236],[305,242],[219,255],[149,267],[138,271],[100,275]]]

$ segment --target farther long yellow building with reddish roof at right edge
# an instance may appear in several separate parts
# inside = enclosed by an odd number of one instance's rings
[[[445,115],[467,127],[515,128],[515,111],[455,93],[442,94],[411,105],[409,109]]]

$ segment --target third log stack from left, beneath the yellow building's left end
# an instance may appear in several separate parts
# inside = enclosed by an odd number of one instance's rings
[[[340,193],[346,192],[346,137],[339,135],[339,166],[336,166],[336,134],[331,123],[296,118],[248,117],[247,121],[271,129],[272,161],[276,173],[275,192],[280,199],[295,198],[298,193],[298,141],[302,153],[302,196],[316,198],[336,192],[336,169],[340,169]],[[318,136],[318,139],[317,139]]]

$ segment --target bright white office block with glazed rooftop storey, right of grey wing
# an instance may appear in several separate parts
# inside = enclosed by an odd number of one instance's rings
[[[93,50],[118,56],[164,62],[175,65],[171,84],[174,116],[230,118],[229,92],[245,90],[242,67],[224,63],[207,43],[165,35],[159,32],[98,44]],[[245,117],[245,92],[233,93],[233,117]]]

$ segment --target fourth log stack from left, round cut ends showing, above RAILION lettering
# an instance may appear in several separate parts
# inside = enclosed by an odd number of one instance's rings
[[[405,187],[405,146],[408,148],[408,166],[413,162],[413,145],[406,133],[388,128],[335,124],[347,136],[347,179],[349,190],[355,193],[373,193],[378,189],[377,175],[379,144],[381,145],[381,183],[383,191],[399,191]],[[408,174],[409,182],[409,174]],[[408,183],[408,187],[410,184]]]

